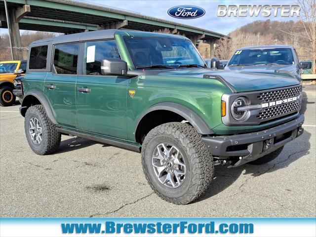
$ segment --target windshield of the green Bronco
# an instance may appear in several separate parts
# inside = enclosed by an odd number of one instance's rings
[[[161,66],[162,69],[178,68],[179,65],[204,67],[203,59],[189,40],[124,37],[124,41],[136,69],[142,66]]]

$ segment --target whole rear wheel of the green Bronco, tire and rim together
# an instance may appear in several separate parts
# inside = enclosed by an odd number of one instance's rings
[[[24,128],[28,143],[36,154],[48,155],[58,149],[61,134],[47,117],[42,105],[31,106],[26,111]]]

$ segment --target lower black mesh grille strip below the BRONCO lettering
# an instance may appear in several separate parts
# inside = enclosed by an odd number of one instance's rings
[[[275,117],[281,117],[298,111],[300,106],[300,100],[296,100],[287,104],[276,105],[274,107],[264,109],[259,113],[259,115],[257,115],[257,118],[259,120],[266,120]]]

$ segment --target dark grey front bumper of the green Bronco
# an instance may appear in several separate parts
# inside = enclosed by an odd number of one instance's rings
[[[304,115],[273,128],[259,132],[231,136],[202,137],[212,156],[219,159],[238,157],[233,166],[263,157],[294,138],[300,136],[304,129]]]

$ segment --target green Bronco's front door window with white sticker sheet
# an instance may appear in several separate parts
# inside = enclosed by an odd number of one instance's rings
[[[120,58],[115,40],[84,43],[84,75],[101,75],[101,61],[106,58]]]

